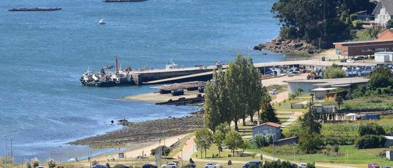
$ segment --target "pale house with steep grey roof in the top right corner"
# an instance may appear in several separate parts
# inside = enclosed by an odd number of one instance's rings
[[[376,24],[386,27],[387,21],[393,18],[393,0],[380,0],[371,15]]]

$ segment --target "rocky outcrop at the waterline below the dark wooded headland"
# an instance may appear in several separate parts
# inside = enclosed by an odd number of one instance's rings
[[[317,42],[318,45],[318,42]],[[285,39],[281,36],[274,38],[271,42],[262,43],[255,46],[254,49],[269,50],[277,53],[295,53],[295,54],[314,54],[320,53],[318,46],[307,42],[306,40]]]

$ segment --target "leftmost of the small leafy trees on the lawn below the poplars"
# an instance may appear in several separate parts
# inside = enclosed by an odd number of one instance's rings
[[[211,144],[213,143],[212,133],[207,128],[196,130],[194,141],[196,148],[200,150],[200,159],[202,159],[203,151],[205,151],[206,157],[206,149],[210,148]]]

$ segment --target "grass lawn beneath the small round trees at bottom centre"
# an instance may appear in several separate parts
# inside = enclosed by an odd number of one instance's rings
[[[237,154],[235,152],[235,156],[233,156],[233,153],[228,151],[228,150],[223,150],[222,152],[220,152],[221,157],[217,156],[217,157],[211,157],[212,154],[217,155],[218,149],[217,146],[211,146],[208,150],[206,150],[206,157],[205,157],[205,152],[202,153],[202,159],[209,159],[212,161],[215,160],[224,160],[224,161],[251,161],[251,160],[258,160],[258,157],[252,157],[252,156],[243,156],[241,157],[239,154]],[[232,157],[227,157],[228,155],[232,155]],[[198,157],[197,157],[198,156]],[[201,155],[200,155],[200,151],[195,152],[193,155],[191,155],[191,158],[197,158],[197,159],[201,159]]]

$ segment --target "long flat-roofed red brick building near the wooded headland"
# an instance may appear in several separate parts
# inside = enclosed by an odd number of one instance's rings
[[[337,42],[333,44],[336,49],[336,55],[343,57],[374,55],[378,51],[393,51],[393,40]]]

